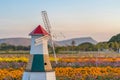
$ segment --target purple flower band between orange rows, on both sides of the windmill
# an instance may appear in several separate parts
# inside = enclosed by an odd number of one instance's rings
[[[56,64],[54,61],[51,61],[52,67],[106,67],[106,66],[111,66],[111,67],[120,67],[120,61],[117,62],[105,62],[105,61],[98,61],[98,62],[93,62],[93,61],[87,61],[87,62],[58,62]],[[25,68],[27,65],[26,62],[0,62],[0,69],[4,68]]]

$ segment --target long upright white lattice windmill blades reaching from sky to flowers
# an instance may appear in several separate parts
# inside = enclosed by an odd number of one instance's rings
[[[47,15],[46,11],[42,11],[41,13],[42,13],[42,18],[43,18],[44,26],[45,26],[47,32],[50,35],[50,43],[51,43],[53,54],[54,54],[54,57],[55,57],[55,62],[57,64],[57,57],[56,57],[56,53],[55,53],[55,46],[54,46],[53,34],[52,34],[52,29],[51,29],[50,21],[48,19],[48,15]]]

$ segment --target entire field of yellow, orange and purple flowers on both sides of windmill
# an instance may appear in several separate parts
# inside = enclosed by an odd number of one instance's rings
[[[2,55],[0,80],[22,80],[29,55]],[[120,57],[50,57],[57,80],[120,80]]]

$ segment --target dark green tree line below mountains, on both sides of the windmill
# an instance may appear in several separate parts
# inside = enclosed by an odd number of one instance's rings
[[[75,42],[72,41],[71,45],[69,46],[61,46],[61,47],[55,47],[55,51],[117,51],[120,49],[120,42],[99,42],[98,44],[92,44],[92,43],[82,43],[78,46],[75,46]],[[0,44],[0,50],[1,51],[28,51],[30,50],[30,46],[14,46],[6,43]],[[49,51],[51,51],[51,47],[49,46]]]

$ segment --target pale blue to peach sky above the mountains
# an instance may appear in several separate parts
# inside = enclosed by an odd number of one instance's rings
[[[0,0],[0,38],[30,37],[47,11],[57,40],[92,37],[108,41],[120,33],[120,0]],[[65,37],[63,37],[62,35]]]

